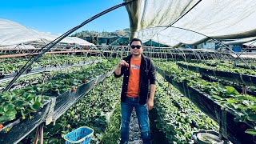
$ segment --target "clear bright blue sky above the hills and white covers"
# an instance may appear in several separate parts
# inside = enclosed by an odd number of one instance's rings
[[[4,0],[0,4],[0,18],[41,32],[63,34],[95,14],[122,2],[123,0]],[[114,31],[129,27],[128,14],[125,6],[122,6],[75,32]]]

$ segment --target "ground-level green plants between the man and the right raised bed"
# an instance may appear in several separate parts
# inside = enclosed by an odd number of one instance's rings
[[[192,140],[192,132],[197,130],[218,130],[218,125],[188,98],[168,86],[168,82],[160,81],[158,75],[155,108],[158,111],[157,128],[166,134],[170,143],[188,143]],[[162,79],[162,78],[161,78]]]

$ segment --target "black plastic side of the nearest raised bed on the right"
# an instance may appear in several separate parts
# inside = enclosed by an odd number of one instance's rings
[[[159,70],[159,73],[165,74],[163,70]],[[255,136],[245,133],[247,129],[254,129],[254,122],[235,122],[234,111],[223,108],[219,105],[219,102],[214,101],[208,94],[188,86],[186,82],[177,82],[168,74],[162,76],[198,106],[200,110],[218,122],[224,138],[233,143],[255,143]]]

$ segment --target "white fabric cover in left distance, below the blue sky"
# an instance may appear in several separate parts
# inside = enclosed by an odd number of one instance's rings
[[[26,42],[49,43],[59,36],[59,34],[38,32],[37,30],[22,26],[17,22],[0,18],[0,46],[12,46]],[[66,37],[61,42],[80,46],[93,45],[82,38],[76,37]]]

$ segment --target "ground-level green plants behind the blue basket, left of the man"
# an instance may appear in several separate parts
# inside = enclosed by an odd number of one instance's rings
[[[120,79],[106,78],[95,86],[88,94],[70,107],[54,126],[44,126],[45,143],[64,143],[64,135],[80,126],[94,129],[91,143],[117,143],[121,123],[119,94]],[[111,115],[108,118],[108,115]],[[34,134],[30,134],[22,142],[33,142]]]

